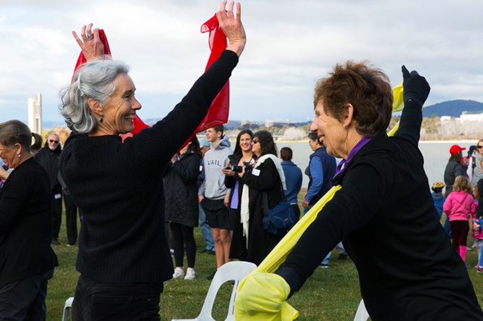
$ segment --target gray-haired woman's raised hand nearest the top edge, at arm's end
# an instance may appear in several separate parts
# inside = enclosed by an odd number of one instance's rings
[[[240,3],[237,2],[237,14],[235,17],[233,14],[234,4],[235,2],[233,0],[230,1],[228,10],[225,10],[226,1],[221,2],[221,6],[217,12],[217,19],[221,30],[223,30],[228,38],[229,45],[226,49],[231,50],[240,56],[245,48],[246,34],[242,20],[240,20],[242,7],[240,6]]]

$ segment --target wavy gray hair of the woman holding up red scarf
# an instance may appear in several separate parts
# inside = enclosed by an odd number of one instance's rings
[[[121,61],[93,60],[77,70],[74,80],[60,91],[61,115],[70,130],[90,133],[97,128],[90,112],[88,99],[106,103],[116,90],[114,80],[118,74],[127,74],[129,67]]]

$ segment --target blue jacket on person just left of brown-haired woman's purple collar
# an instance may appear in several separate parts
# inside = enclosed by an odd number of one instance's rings
[[[337,170],[337,162],[334,156],[327,154],[325,146],[315,149],[310,157],[311,161],[305,170],[305,174],[310,178],[305,200],[308,205],[314,205],[331,189],[331,180]]]

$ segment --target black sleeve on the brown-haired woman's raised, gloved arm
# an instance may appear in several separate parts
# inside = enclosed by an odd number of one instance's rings
[[[420,131],[422,123],[422,109],[415,101],[408,101],[402,110],[399,130],[395,137],[405,138],[417,147],[420,141]]]

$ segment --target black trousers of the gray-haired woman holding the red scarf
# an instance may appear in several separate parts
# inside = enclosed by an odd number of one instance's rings
[[[147,284],[101,283],[79,277],[72,302],[72,321],[159,321],[161,290]]]

